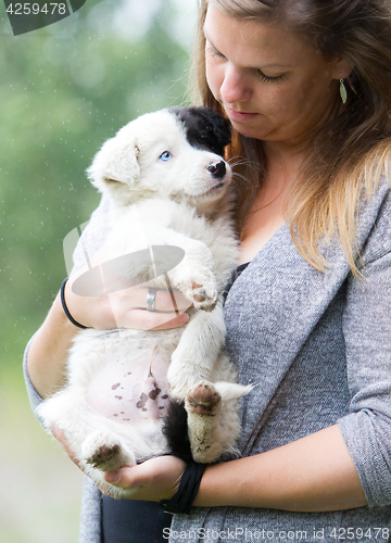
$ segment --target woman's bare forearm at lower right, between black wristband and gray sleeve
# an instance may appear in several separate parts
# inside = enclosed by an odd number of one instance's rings
[[[294,512],[366,505],[338,426],[263,454],[210,466],[194,505],[266,507]]]

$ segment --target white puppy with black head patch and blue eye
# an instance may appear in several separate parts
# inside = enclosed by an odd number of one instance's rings
[[[222,292],[238,258],[231,168],[222,157],[229,139],[228,121],[212,110],[163,110],[123,127],[88,171],[111,199],[112,228],[104,286],[91,267],[74,292],[143,283],[192,302],[185,327],[80,331],[66,387],[38,407],[45,426],[61,428],[86,472],[117,497],[133,491],[108,484],[103,471],[166,453],[200,463],[236,454],[238,399],[251,387],[237,384],[224,351]]]

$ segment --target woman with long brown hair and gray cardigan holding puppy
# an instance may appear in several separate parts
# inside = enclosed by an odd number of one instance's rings
[[[230,118],[230,156],[247,159],[225,315],[241,381],[261,386],[243,401],[243,457],[206,467],[172,540],[387,541],[391,4],[201,0],[198,45],[202,101]],[[114,326],[71,289],[67,303],[87,326]],[[146,307],[146,292],[128,304]],[[142,313],[124,310],[124,326],[142,327]],[[42,396],[74,333],[55,302],[28,354]],[[182,473],[163,457],[106,479],[160,501]]]

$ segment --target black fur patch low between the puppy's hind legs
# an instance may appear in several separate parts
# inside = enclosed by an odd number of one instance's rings
[[[166,437],[171,454],[185,462],[191,462],[191,449],[188,438],[187,413],[184,402],[172,401],[164,417],[163,434]]]

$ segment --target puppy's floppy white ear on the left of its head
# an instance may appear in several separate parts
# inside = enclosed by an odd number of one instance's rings
[[[100,191],[112,181],[131,185],[140,176],[138,153],[135,141],[114,137],[102,146],[87,175]]]

